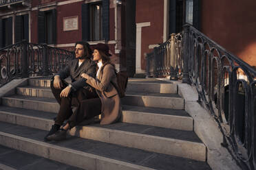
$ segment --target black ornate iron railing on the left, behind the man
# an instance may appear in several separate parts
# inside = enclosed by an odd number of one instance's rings
[[[26,41],[0,49],[0,86],[17,77],[52,75],[64,69],[74,53]]]

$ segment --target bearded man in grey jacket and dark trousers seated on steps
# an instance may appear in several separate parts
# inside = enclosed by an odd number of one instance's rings
[[[76,42],[75,53],[76,59],[72,60],[63,71],[59,71],[52,78],[52,93],[60,104],[60,109],[52,129],[45,136],[45,141],[52,140],[52,136],[60,130],[65,120],[67,120],[70,128],[76,125],[76,115],[72,112],[72,106],[78,106],[83,99],[98,97],[95,89],[86,84],[85,79],[81,77],[82,73],[87,73],[92,77],[96,76],[96,64],[90,60],[92,50],[89,48],[89,44],[83,41]],[[72,80],[71,84],[64,81],[69,76]]]

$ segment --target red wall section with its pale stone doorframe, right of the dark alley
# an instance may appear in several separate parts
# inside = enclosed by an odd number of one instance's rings
[[[136,1],[136,73],[145,73],[145,54],[164,37],[164,0]]]

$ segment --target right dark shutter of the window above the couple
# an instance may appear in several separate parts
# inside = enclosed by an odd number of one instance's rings
[[[109,0],[103,0],[103,39],[109,40]]]

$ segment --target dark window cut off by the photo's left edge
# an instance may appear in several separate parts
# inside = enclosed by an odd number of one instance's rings
[[[0,19],[0,47],[12,45],[12,17]]]

